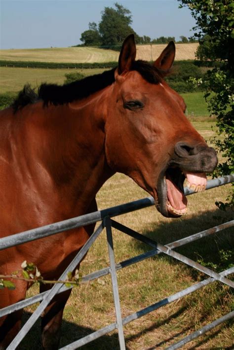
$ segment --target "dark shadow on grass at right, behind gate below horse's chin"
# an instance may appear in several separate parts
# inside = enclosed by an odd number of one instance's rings
[[[190,215],[188,218],[184,216],[177,219],[170,219],[168,222],[162,221],[161,223],[152,224],[152,229],[143,230],[142,234],[162,245],[166,245],[232,220],[233,217],[231,215],[233,214],[222,212],[219,209],[206,211],[199,216],[193,215],[191,217]],[[220,251],[233,249],[234,235],[232,235],[232,232],[233,227],[227,228],[208,237],[178,247],[175,250],[195,261],[197,259],[202,259],[205,263],[212,262],[213,264],[221,264]],[[149,245],[134,239],[132,244],[139,253],[151,249]],[[177,260],[165,254],[157,255],[155,259],[162,258],[162,256],[163,259],[169,260],[172,264],[178,263]],[[228,265],[228,261],[226,265]],[[220,268],[222,268],[222,266],[220,266]],[[224,266],[224,269],[225,268],[227,268],[227,266]],[[192,271],[191,274],[193,275]],[[195,276],[192,277],[196,277],[196,273]]]

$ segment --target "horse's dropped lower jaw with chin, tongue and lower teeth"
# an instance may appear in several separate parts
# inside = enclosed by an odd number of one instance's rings
[[[180,168],[167,168],[157,181],[156,209],[165,217],[180,217],[188,212]]]

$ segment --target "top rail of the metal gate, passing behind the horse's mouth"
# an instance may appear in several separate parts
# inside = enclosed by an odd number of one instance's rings
[[[206,189],[221,186],[233,181],[234,181],[234,174],[219,177],[214,180],[209,180],[207,182]],[[193,194],[193,193],[194,193],[193,191],[189,189],[185,189],[186,195]],[[134,211],[134,210],[151,207],[154,204],[155,204],[154,198],[147,197],[134,202],[121,204],[116,207],[94,211],[92,213],[80,215],[78,217],[74,217],[64,221],[59,221],[50,225],[42,226],[32,230],[24,231],[21,233],[16,233],[14,235],[10,235],[0,239],[0,250],[9,248],[14,245],[20,245],[26,242],[38,240],[39,238],[48,237],[66,230],[71,230],[71,229],[85,226],[91,223],[95,223],[97,221],[101,221],[106,216],[114,217],[117,215]]]

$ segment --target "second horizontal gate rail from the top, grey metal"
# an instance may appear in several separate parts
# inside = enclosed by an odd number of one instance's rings
[[[130,232],[130,231],[131,232],[136,232],[136,231],[134,231],[134,230],[132,230],[132,229],[130,229],[130,228],[128,228],[128,227],[118,223],[117,221],[112,220],[112,224],[113,224],[113,227],[116,227],[117,230],[122,231],[123,233],[127,233],[127,232]],[[173,249],[175,247],[179,247],[179,246],[185,245],[187,243],[191,243],[191,242],[193,242],[195,240],[198,240],[198,239],[203,238],[205,236],[208,236],[210,234],[218,233],[221,230],[224,230],[224,229],[232,227],[232,226],[234,226],[234,220],[229,221],[229,222],[225,222],[224,224],[212,227],[212,228],[204,230],[202,232],[195,233],[192,236],[182,238],[181,240],[174,241],[174,242],[169,243],[169,244],[167,244],[165,246],[168,246],[171,249]],[[125,229],[127,229],[127,232],[125,232]],[[147,242],[147,244],[148,244],[148,242]],[[145,252],[145,253],[142,253],[140,255],[137,255],[137,256],[135,256],[133,258],[121,261],[121,262],[116,264],[116,270],[120,270],[120,269],[122,269],[124,267],[127,267],[127,266],[131,265],[131,264],[134,264],[134,263],[137,263],[139,261],[145,260],[145,259],[147,259],[149,257],[153,257],[156,254],[160,254],[160,253],[161,252],[159,250],[153,249],[153,250],[150,250],[148,252]],[[82,282],[87,282],[89,280],[94,280],[94,279],[100,278],[102,276],[106,276],[109,273],[110,273],[109,267],[101,269],[101,270],[98,270],[98,271],[95,271],[95,272],[92,272],[91,274],[83,276],[82,279],[81,279],[81,283]],[[67,289],[68,289],[67,287],[63,286],[59,290],[59,293],[62,293],[64,290],[67,290]],[[71,289],[72,289],[72,287],[71,287]],[[43,292],[43,293],[40,293],[38,295],[35,295],[33,297],[27,298],[25,300],[21,300],[18,303],[15,303],[13,305],[10,305],[10,306],[7,306],[5,308],[0,309],[0,317],[4,316],[4,315],[7,315],[7,314],[11,314],[14,311],[23,309],[23,308],[25,308],[25,307],[27,307],[29,305],[32,305],[32,304],[40,302],[43,299],[43,296],[46,293],[47,293],[47,291]]]

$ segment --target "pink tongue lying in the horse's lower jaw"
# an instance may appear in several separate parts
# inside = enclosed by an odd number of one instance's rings
[[[187,198],[177,187],[169,176],[166,177],[167,185],[167,210],[173,215],[183,215],[187,213]]]

